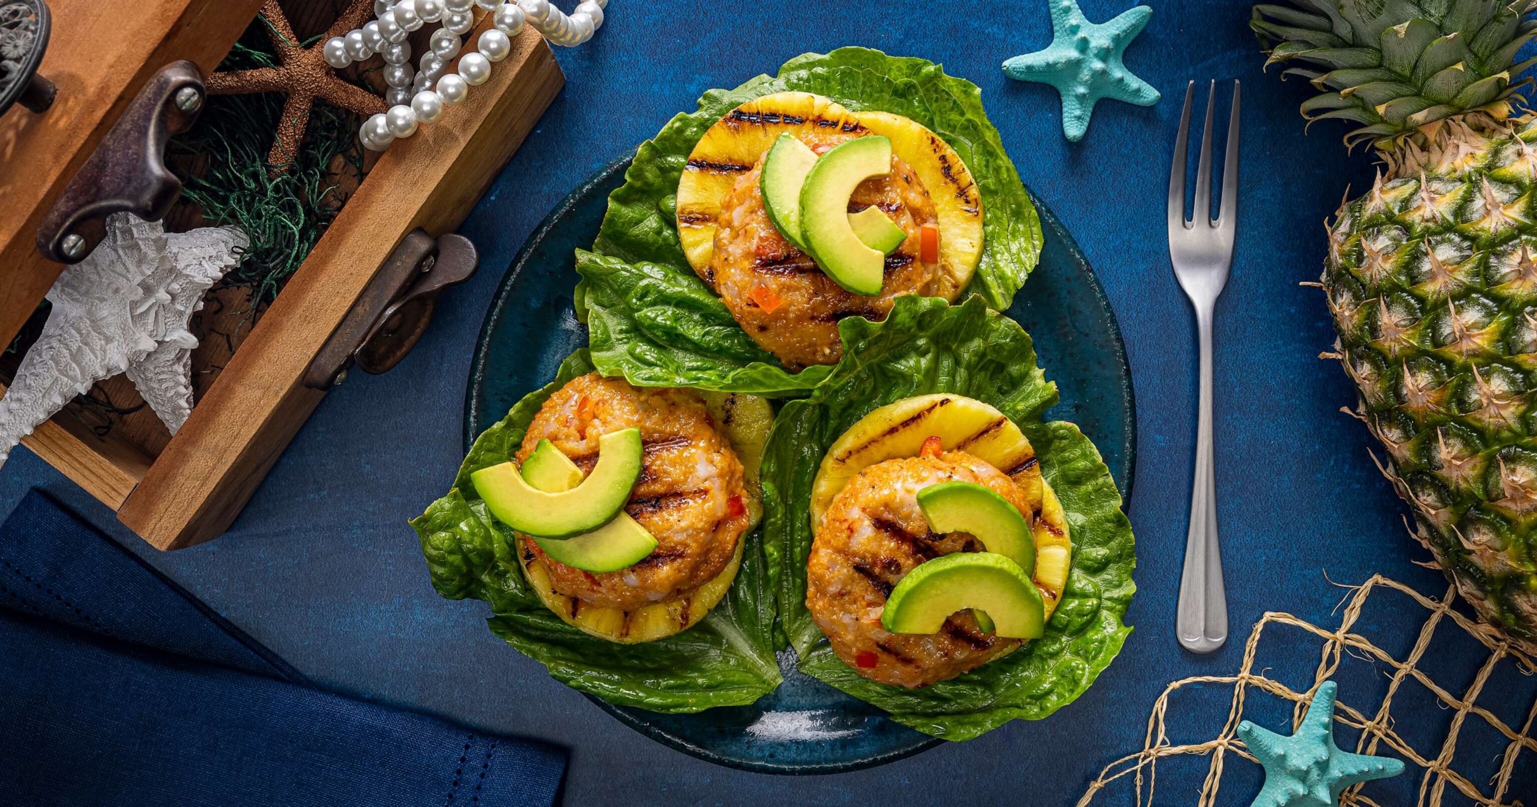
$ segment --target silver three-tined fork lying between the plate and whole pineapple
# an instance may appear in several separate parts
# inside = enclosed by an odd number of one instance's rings
[[[1185,88],[1185,112],[1174,140],[1174,164],[1168,175],[1168,258],[1174,277],[1196,309],[1200,332],[1200,423],[1196,432],[1196,481],[1190,493],[1190,535],[1185,540],[1185,570],[1179,580],[1179,644],[1210,653],[1228,641],[1228,599],[1222,586],[1222,550],[1217,544],[1216,460],[1211,447],[1211,317],[1233,264],[1233,235],[1239,198],[1239,83],[1233,81],[1233,114],[1222,169],[1222,208],[1211,218],[1211,111],[1217,83],[1207,95],[1207,125],[1200,135],[1196,168],[1196,204],[1185,220],[1185,155],[1190,143],[1190,101],[1196,83]]]

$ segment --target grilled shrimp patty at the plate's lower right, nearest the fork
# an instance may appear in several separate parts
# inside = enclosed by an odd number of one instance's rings
[[[859,675],[907,689],[954,678],[1019,647],[982,633],[971,612],[951,615],[933,635],[888,633],[881,612],[891,589],[918,564],[951,552],[981,552],[968,533],[933,533],[918,492],[953,480],[985,484],[1025,518],[1025,492],[965,452],[885,460],[848,480],[812,541],[805,607],[833,652]]]

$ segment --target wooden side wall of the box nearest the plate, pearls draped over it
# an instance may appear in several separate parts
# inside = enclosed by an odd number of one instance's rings
[[[458,126],[438,123],[418,132],[412,138],[415,143],[401,143],[380,160],[369,178],[383,181],[364,180],[343,208],[309,260],[194,407],[192,417],[129,493],[118,509],[120,521],[158,549],[207,541],[234,521],[323,397],[301,384],[309,361],[400,237],[415,226],[433,234],[456,227],[564,86],[553,54],[532,29],[520,37],[515,52],[498,68],[492,81],[476,88],[492,89],[493,103],[476,109],[472,95],[470,103],[450,111],[473,111]],[[423,168],[432,154],[446,161],[437,181],[423,177],[432,171]],[[495,169],[475,171],[487,164]],[[460,181],[443,181],[449,174]],[[393,240],[381,238],[372,221],[378,211],[369,206],[398,204],[401,188],[423,188],[423,181],[430,184],[409,221]]]

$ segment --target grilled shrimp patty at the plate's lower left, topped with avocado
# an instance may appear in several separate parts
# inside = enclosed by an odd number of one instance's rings
[[[633,387],[622,378],[572,378],[533,417],[518,463],[549,440],[583,473],[598,461],[598,438],[638,427],[641,477],[624,512],[656,538],[656,550],[618,572],[593,575],[524,546],[550,570],[550,587],[596,606],[633,610],[687,596],[725,569],[747,530],[742,463],[721,424],[689,389]]]

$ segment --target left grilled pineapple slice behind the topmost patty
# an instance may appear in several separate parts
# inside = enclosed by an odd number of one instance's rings
[[[678,181],[678,237],[695,272],[715,254],[715,217],[736,178],[784,132],[801,140],[822,129],[861,131],[853,112],[810,92],[775,92],[753,98],[710,126],[689,152]],[[942,240],[942,238],[941,238]]]

